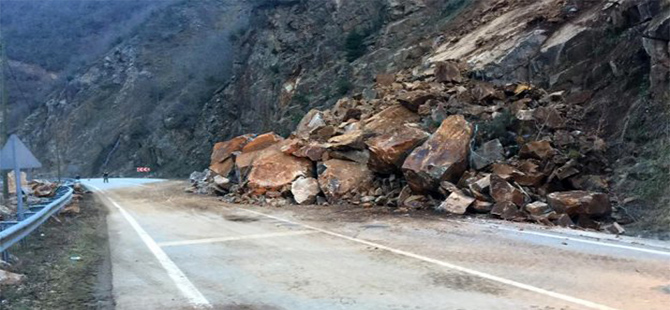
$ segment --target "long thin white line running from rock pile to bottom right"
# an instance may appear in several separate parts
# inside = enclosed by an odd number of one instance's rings
[[[368,246],[376,247],[378,249],[386,250],[386,251],[389,251],[391,253],[395,253],[395,254],[398,254],[398,255],[411,257],[411,258],[414,258],[414,259],[422,260],[424,262],[432,263],[432,264],[439,265],[439,266],[442,266],[442,267],[447,267],[447,268],[450,268],[450,269],[453,269],[453,270],[456,270],[456,271],[467,273],[467,274],[477,276],[477,277],[480,277],[480,278],[484,278],[484,279],[487,279],[487,280],[490,280],[490,281],[506,284],[506,285],[513,286],[513,287],[516,287],[516,288],[520,288],[520,289],[523,289],[523,290],[527,290],[527,291],[530,291],[530,292],[534,292],[534,293],[542,294],[542,295],[545,295],[545,296],[553,297],[553,298],[560,299],[560,300],[563,300],[563,301],[567,301],[567,302],[570,302],[570,303],[573,303],[573,304],[581,305],[581,306],[584,306],[584,307],[587,307],[587,308],[599,309],[599,310],[616,310],[616,308],[611,308],[611,307],[601,305],[601,304],[598,304],[598,303],[595,303],[595,302],[592,302],[592,301],[572,297],[572,296],[561,294],[561,293],[552,292],[552,291],[545,290],[545,289],[535,287],[535,286],[532,286],[532,285],[524,284],[524,283],[521,283],[521,282],[516,282],[516,281],[513,281],[513,280],[508,280],[508,279],[505,279],[505,278],[502,278],[502,277],[494,276],[492,274],[488,274],[488,273],[484,273],[484,272],[477,271],[477,270],[474,270],[474,269],[470,269],[470,268],[454,265],[454,264],[451,264],[451,263],[447,263],[447,262],[437,260],[437,259],[434,259],[434,258],[430,258],[430,257],[422,256],[422,255],[419,255],[419,254],[415,254],[415,253],[412,253],[412,252],[407,252],[407,251],[395,249],[395,248],[392,248],[392,247],[389,247],[389,246],[381,245],[379,243],[374,243],[374,242],[363,240],[363,239],[358,239],[358,238],[354,238],[354,237],[345,236],[345,235],[342,235],[342,234],[339,234],[339,233],[336,233],[336,232],[332,232],[332,231],[329,231],[329,230],[317,228],[317,227],[302,224],[302,223],[293,222],[293,221],[290,221],[290,220],[287,220],[287,219],[283,219],[283,218],[280,218],[280,217],[276,217],[276,216],[265,214],[265,213],[258,212],[258,211],[253,211],[253,210],[248,210],[248,209],[243,209],[243,208],[238,208],[238,209],[243,210],[243,211],[247,211],[247,212],[250,212],[250,213],[253,213],[253,214],[256,214],[256,215],[262,215],[262,216],[265,216],[265,217],[268,217],[268,218],[271,218],[271,219],[275,219],[275,220],[278,220],[278,221],[282,221],[282,222],[285,222],[285,223],[299,225],[299,226],[302,226],[306,229],[312,229],[312,230],[315,230],[315,231],[318,231],[318,232],[321,232],[321,233],[324,233],[324,234],[327,234],[327,235],[331,235],[333,237],[346,239],[346,240],[357,242],[357,243],[360,243],[360,244],[365,244],[365,245],[368,245]]]

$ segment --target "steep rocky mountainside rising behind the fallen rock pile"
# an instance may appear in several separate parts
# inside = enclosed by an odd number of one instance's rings
[[[473,80],[564,91],[565,104],[580,109],[580,129],[606,142],[613,200],[630,217],[670,221],[662,200],[670,152],[659,126],[668,123],[666,0],[202,3],[171,7],[179,18],[164,18],[176,26],[154,19],[147,29],[160,35],[147,30],[78,75],[33,116],[25,130],[32,144],[51,158],[60,149],[70,170],[84,174],[137,165],[184,173],[207,165],[215,142],[247,132],[286,136],[307,111],[343,95],[377,98],[378,74],[453,59]],[[198,45],[221,33],[225,46]],[[200,72],[212,68],[214,50],[232,58],[204,90],[206,81],[183,78],[189,68],[179,58],[165,61],[189,55],[199,62],[188,64],[204,64]],[[167,82],[148,91],[142,82],[150,77]]]

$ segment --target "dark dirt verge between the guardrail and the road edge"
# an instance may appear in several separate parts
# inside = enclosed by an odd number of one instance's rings
[[[79,203],[79,214],[51,218],[11,249],[8,270],[26,281],[0,287],[0,309],[114,309],[107,210],[92,194]]]

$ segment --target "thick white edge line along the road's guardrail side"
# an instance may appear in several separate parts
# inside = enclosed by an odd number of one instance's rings
[[[98,190],[103,196],[104,196],[104,191],[100,190],[99,188],[92,186],[96,190]],[[144,242],[144,244],[149,248],[151,253],[154,254],[158,262],[163,266],[165,271],[167,271],[168,276],[172,279],[172,281],[175,283],[177,288],[184,294],[184,296],[188,299],[188,301],[195,306],[196,308],[212,308],[212,305],[207,301],[205,296],[198,291],[198,289],[193,285],[193,283],[186,277],[184,272],[177,267],[177,265],[170,259],[170,257],[163,252],[163,250],[156,244],[156,241],[154,241],[151,236],[140,226],[139,223],[125,210],[123,209],[116,201],[114,201],[112,198],[109,196],[105,196],[109,202],[111,202],[116,209],[119,210],[121,215],[128,221],[130,226],[135,229],[135,232],[140,236],[140,239]]]

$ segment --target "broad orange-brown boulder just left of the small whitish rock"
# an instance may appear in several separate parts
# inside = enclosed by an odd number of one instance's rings
[[[306,158],[286,155],[279,149],[257,158],[249,172],[248,186],[256,195],[279,191],[298,177],[313,174],[312,162]]]

